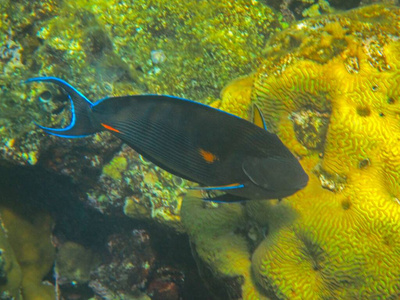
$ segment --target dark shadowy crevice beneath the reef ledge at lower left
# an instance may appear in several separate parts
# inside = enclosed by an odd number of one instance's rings
[[[125,237],[132,239],[133,232],[145,232],[150,242],[143,251],[151,250],[154,263],[140,291],[157,293],[160,285],[165,288],[172,282],[179,286],[181,299],[212,299],[198,275],[187,235],[176,234],[154,222],[132,220],[122,214],[103,215],[85,204],[85,191],[69,177],[38,166],[15,166],[0,161],[0,192],[2,206],[16,211],[28,221],[34,212],[50,214],[55,220],[53,240],[61,241],[61,244],[73,242],[90,249],[103,263],[110,263],[112,259],[107,253],[110,240],[115,242],[122,238],[124,241]],[[54,283],[54,274],[51,270],[45,279]],[[87,284],[66,284],[61,293],[80,293],[83,297],[93,295]]]

